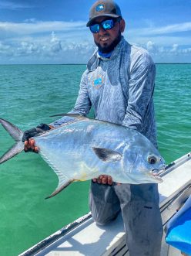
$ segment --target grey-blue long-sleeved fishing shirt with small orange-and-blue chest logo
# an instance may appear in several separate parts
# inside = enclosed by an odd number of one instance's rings
[[[122,37],[109,59],[95,50],[82,75],[75,107],[69,113],[87,115],[92,107],[95,119],[136,129],[156,146],[155,75],[149,53]],[[65,118],[52,125],[63,122]]]

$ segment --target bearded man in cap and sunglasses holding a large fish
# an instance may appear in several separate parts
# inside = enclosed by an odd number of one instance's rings
[[[132,46],[122,36],[125,21],[112,0],[92,5],[87,23],[97,49],[82,75],[79,96],[70,113],[87,115],[91,107],[95,118],[133,128],[156,145],[153,108],[155,65],[145,49]],[[52,126],[61,125],[65,118]],[[33,132],[49,129],[48,125]],[[35,147],[31,131],[23,137],[25,151]],[[156,145],[157,146],[157,145]],[[92,180],[89,192],[92,217],[99,225],[107,224],[122,211],[126,243],[130,256],[158,256],[163,235],[156,184],[112,183],[112,177]]]

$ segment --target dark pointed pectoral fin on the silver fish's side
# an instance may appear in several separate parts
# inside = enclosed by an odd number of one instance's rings
[[[95,155],[103,162],[117,162],[122,159],[122,154],[108,148],[92,148]]]

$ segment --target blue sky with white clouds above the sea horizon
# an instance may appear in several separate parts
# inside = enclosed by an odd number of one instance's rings
[[[0,0],[0,64],[86,63],[94,0]],[[156,63],[191,63],[191,0],[117,0],[125,38]]]

